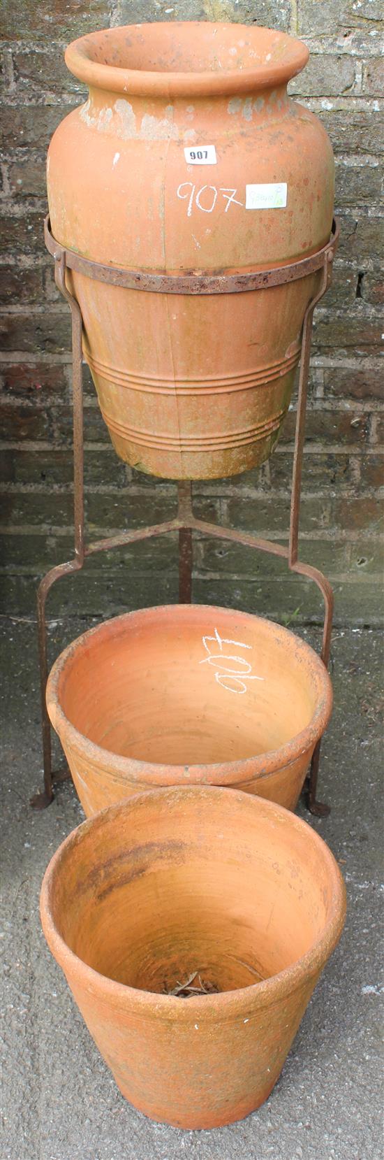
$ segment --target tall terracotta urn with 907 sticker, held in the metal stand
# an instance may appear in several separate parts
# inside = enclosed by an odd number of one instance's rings
[[[300,41],[243,24],[154,23],[66,51],[89,99],[57,129],[54,238],[147,274],[244,274],[330,238],[333,157],[287,95]],[[319,275],[253,292],[162,293],[68,274],[84,356],[117,452],[155,476],[202,479],[263,463],[286,415]]]

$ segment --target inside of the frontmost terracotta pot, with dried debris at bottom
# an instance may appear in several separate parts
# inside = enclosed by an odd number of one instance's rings
[[[257,984],[316,945],[334,906],[310,827],[234,790],[152,791],[73,836],[50,887],[56,929],[136,989],[167,994],[193,972],[219,992]]]

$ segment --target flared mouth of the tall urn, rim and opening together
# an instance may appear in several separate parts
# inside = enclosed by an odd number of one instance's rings
[[[91,88],[149,96],[214,96],[282,86],[307,64],[301,41],[248,24],[128,24],[74,41],[69,72]]]

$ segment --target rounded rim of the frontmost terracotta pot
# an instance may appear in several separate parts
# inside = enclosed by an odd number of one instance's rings
[[[113,818],[118,818],[124,813],[130,813],[138,809],[146,809],[146,803],[148,799],[156,798],[160,803],[161,798],[164,800],[167,809],[167,803],[179,799],[187,799],[189,795],[199,795],[202,805],[206,810],[215,809],[215,800],[219,802],[217,795],[230,795],[231,810],[234,803],[245,810],[245,811],[258,811],[261,817],[269,815],[271,819],[275,819],[282,825],[288,825],[291,829],[305,831],[308,842],[322,850],[322,857],[324,864],[327,869],[328,880],[332,883],[332,901],[330,905],[330,916],[324,926],[324,930],[319,938],[310,947],[310,949],[301,958],[296,959],[290,966],[285,967],[276,974],[271,976],[263,983],[251,984],[248,987],[239,987],[235,991],[219,992],[212,995],[201,996],[190,996],[185,1003],[182,1002],[176,995],[163,995],[152,991],[140,991],[139,988],[131,987],[123,983],[116,983],[108,976],[101,974],[95,971],[94,967],[88,966],[83,959],[79,958],[65,942],[65,940],[59,934],[52,909],[52,896],[54,877],[60,869],[60,862],[65,858],[68,850],[72,847],[77,846],[82,842],[89,831],[97,831],[108,826]],[[161,797],[160,797],[161,796]],[[346,914],[346,887],[342,875],[335,862],[335,858],[331,850],[328,849],[326,842],[316,833],[311,826],[308,825],[303,819],[297,818],[296,814],[291,813],[290,810],[286,810],[281,805],[276,805],[275,802],[269,802],[265,798],[253,797],[248,793],[243,793],[241,790],[229,790],[222,786],[197,786],[197,785],[183,785],[183,786],[162,786],[156,790],[147,790],[145,793],[134,793],[125,802],[119,802],[116,805],[106,806],[105,810],[101,810],[94,817],[88,818],[83,821],[76,829],[72,831],[68,838],[59,846],[51,858],[42,884],[40,890],[40,919],[44,930],[46,942],[52,951],[52,955],[61,966],[67,979],[69,978],[76,980],[76,985],[84,987],[89,993],[91,993],[99,1002],[108,1002],[113,1008],[119,1010],[126,1010],[127,1008],[134,1008],[140,1013],[140,1017],[146,1016],[153,1020],[154,1015],[158,1018],[168,1017],[170,1022],[179,1023],[180,1018],[185,1022],[195,1023],[195,1020],[200,1016],[205,1021],[215,1023],[217,1016],[220,1018],[226,1017],[232,1020],[234,1014],[241,1015],[252,1015],[256,1010],[261,1008],[271,1007],[279,1002],[282,996],[288,998],[295,991],[303,986],[308,986],[311,978],[316,977],[319,970],[323,969],[325,962],[332,954],[334,947],[337,945],[345,922]]]

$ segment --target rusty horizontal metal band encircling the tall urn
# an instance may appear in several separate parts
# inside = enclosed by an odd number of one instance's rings
[[[326,246],[298,262],[278,266],[271,270],[250,270],[248,274],[148,274],[143,270],[105,266],[102,262],[93,262],[89,258],[82,258],[74,249],[60,246],[60,242],[53,238],[49,216],[44,222],[45,245],[57,262],[64,261],[69,270],[83,274],[88,278],[95,278],[97,282],[106,282],[126,290],[147,290],[152,293],[239,293],[246,290],[266,290],[269,287],[296,282],[297,278],[316,274],[325,263],[333,261],[339,232],[339,225],[333,218],[331,238]]]

